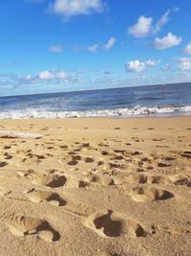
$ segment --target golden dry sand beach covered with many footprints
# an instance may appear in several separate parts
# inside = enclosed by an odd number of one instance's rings
[[[1,121],[0,255],[191,255],[191,118]]]

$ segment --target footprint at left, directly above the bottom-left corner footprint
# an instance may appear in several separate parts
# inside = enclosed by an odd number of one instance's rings
[[[32,189],[27,192],[27,198],[30,198],[33,202],[49,202],[54,206],[63,206],[66,205],[66,200],[60,198],[60,196],[56,193],[50,191],[40,191]]]

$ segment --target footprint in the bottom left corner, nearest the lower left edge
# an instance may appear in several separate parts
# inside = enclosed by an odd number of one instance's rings
[[[14,236],[37,236],[47,242],[58,241],[60,235],[48,221],[21,216],[8,222],[7,226]]]

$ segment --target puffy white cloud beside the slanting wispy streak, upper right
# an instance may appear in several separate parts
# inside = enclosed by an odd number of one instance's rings
[[[145,37],[150,34],[153,18],[140,16],[138,23],[128,29],[130,35],[135,37]]]

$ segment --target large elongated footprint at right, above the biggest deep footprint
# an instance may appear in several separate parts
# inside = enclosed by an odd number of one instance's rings
[[[155,187],[138,186],[130,191],[131,198],[138,202],[147,202],[153,200],[165,200],[174,198],[174,195],[167,191]]]

